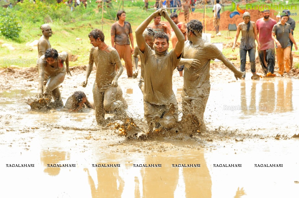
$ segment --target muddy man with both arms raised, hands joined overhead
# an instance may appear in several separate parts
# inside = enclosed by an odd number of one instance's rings
[[[143,36],[143,32],[150,21],[161,15],[170,23],[178,38],[176,47],[169,53],[167,52],[169,38],[166,33],[158,32],[155,34],[154,51],[147,45]],[[136,29],[135,33],[139,57],[144,65],[144,116],[147,119],[149,131],[152,131],[154,127],[158,127],[156,119],[161,118],[163,120],[163,116],[169,112],[170,106],[174,107],[171,111],[173,112],[172,120],[167,120],[167,122],[176,123],[178,120],[178,105],[172,90],[172,75],[181,58],[185,39],[164,8],[152,13]],[[166,128],[169,127],[173,126]]]

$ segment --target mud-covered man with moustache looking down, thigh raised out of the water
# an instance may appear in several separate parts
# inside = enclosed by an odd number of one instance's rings
[[[93,64],[97,68],[93,86],[94,108],[97,124],[105,124],[105,111],[123,109],[123,93],[118,85],[118,78],[123,73],[123,66],[116,49],[106,45],[105,35],[99,29],[89,33],[92,48],[89,55],[89,64],[86,68],[86,80],[82,83],[86,87]],[[118,68],[115,72],[115,66]]]

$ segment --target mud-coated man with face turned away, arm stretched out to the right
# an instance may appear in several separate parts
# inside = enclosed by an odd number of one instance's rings
[[[204,133],[206,126],[203,115],[210,94],[210,61],[216,58],[221,60],[234,72],[236,79],[241,79],[245,72],[237,70],[214,44],[205,42],[202,29],[202,23],[198,20],[191,20],[187,24],[188,40],[185,42],[183,57],[197,59],[200,64],[185,63],[182,119],[188,119],[189,114],[195,115],[200,123],[200,132]]]

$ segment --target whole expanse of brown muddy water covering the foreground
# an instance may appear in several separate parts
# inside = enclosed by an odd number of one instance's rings
[[[221,126],[271,137],[252,136],[239,142],[234,138],[209,142],[200,137],[184,142],[125,141],[112,130],[96,127],[93,110],[31,111],[22,98],[33,97],[36,90],[0,91],[0,197],[296,197],[299,140],[274,140],[273,135],[299,133],[298,82],[271,78],[212,83],[205,112],[210,130]],[[180,102],[181,87],[174,86],[173,90]],[[124,87],[123,94],[132,116],[143,117],[138,86]],[[238,105],[266,109],[235,109]],[[234,110],[225,110],[228,106],[234,106]],[[47,167],[57,163],[76,167]],[[5,167],[6,164],[34,167]],[[92,164],[120,167],[99,168]],[[172,164],[200,167],[171,167]]]

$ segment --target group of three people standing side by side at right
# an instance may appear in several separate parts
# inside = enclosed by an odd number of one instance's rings
[[[274,74],[276,49],[278,73],[283,77],[285,68],[286,75],[290,76],[289,72],[293,64],[293,45],[296,50],[298,49],[293,37],[293,31],[296,25],[295,21],[290,17],[290,10],[283,10],[280,15],[281,19],[278,23],[270,18],[270,10],[263,10],[262,13],[263,18],[254,22],[250,21],[250,13],[245,12],[243,13],[244,22],[238,24],[232,50],[234,51],[239,33],[242,32],[241,43],[239,46],[241,71],[245,71],[246,54],[248,52],[251,73],[253,75],[256,74],[256,40],[258,44],[258,56],[264,73],[268,76]],[[275,42],[275,46],[273,41]]]

